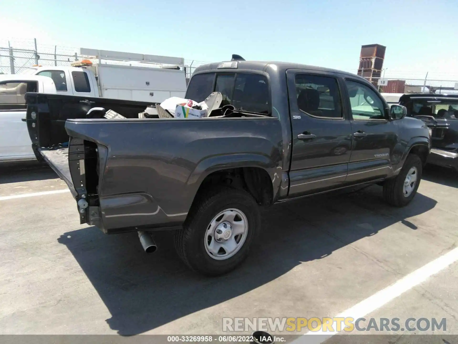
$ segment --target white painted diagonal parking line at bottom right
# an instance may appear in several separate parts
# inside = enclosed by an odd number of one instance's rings
[[[388,302],[394,300],[399,295],[404,292],[412,289],[413,287],[419,285],[422,282],[425,282],[426,279],[435,275],[437,272],[445,269],[450,264],[458,261],[458,248],[455,248],[445,255],[440,256],[439,258],[431,261],[430,263],[420,267],[414,272],[409,273],[407,276],[401,278],[398,282],[393,283],[389,287],[380,290],[378,293],[368,297],[367,299],[361,301],[360,303],[354,305],[346,311],[336,315],[335,317],[348,317],[351,316],[354,319],[363,317],[372,311],[386,305]],[[327,315],[326,315],[327,316]],[[335,325],[335,323],[334,323]],[[336,328],[333,325],[333,328]],[[307,343],[307,344],[319,344],[325,340],[333,337],[338,334],[334,332],[330,334],[329,332],[323,332],[322,330],[316,332],[307,332],[304,336],[297,338],[293,343]],[[316,337],[316,340],[312,339],[310,335],[320,335]]]

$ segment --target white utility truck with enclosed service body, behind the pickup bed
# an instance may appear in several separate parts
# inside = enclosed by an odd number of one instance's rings
[[[85,48],[81,48],[81,54],[89,57],[65,67],[33,66],[22,74],[52,78],[58,94],[151,101],[151,104],[185,96],[182,57]],[[119,64],[120,61],[129,65]]]

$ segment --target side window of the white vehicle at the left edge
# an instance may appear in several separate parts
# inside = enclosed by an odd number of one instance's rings
[[[26,92],[37,92],[36,81],[0,83],[0,110],[25,109]]]

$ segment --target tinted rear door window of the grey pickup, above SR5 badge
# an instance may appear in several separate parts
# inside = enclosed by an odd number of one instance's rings
[[[344,117],[335,78],[298,74],[295,85],[299,110],[316,117]]]

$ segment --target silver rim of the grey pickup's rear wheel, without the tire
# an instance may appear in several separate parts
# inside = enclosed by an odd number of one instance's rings
[[[246,239],[248,220],[238,209],[221,211],[207,227],[205,250],[213,259],[222,261],[235,255]]]

